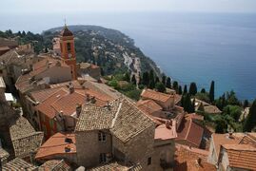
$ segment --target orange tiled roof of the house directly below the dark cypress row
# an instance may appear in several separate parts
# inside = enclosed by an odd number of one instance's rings
[[[152,89],[144,89],[141,93],[141,97],[165,103],[169,98],[172,97],[172,95],[157,92]]]

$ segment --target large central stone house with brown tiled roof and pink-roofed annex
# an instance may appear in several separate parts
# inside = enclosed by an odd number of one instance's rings
[[[156,127],[128,99],[105,107],[86,104],[75,128],[77,161],[87,168],[121,161],[140,164],[143,170],[163,170],[173,162],[175,138],[175,128]]]

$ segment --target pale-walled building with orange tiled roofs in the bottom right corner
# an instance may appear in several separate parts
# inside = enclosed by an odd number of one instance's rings
[[[249,161],[256,160],[255,147],[256,133],[212,134],[207,161],[221,170],[254,170],[255,162]],[[243,157],[235,160],[238,154]]]

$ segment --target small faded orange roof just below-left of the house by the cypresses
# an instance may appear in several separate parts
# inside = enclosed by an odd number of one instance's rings
[[[152,100],[140,100],[139,102],[137,102],[136,105],[141,110],[148,113],[149,115],[156,112],[156,111],[161,111],[162,110],[162,106],[160,106],[159,104],[156,104]]]

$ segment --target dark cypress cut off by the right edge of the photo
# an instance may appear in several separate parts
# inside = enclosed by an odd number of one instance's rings
[[[256,99],[249,108],[249,113],[246,117],[246,122],[244,123],[243,130],[250,132],[256,126]]]

